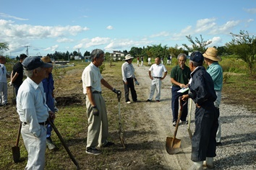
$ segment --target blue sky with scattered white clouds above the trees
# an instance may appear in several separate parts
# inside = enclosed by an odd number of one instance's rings
[[[5,55],[83,54],[132,47],[189,45],[202,35],[210,46],[225,45],[230,32],[256,35],[255,0],[0,0],[0,42]]]

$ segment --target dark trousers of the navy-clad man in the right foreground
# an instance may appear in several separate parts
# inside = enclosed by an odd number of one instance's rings
[[[195,110],[195,133],[192,136],[192,161],[205,161],[216,156],[216,132],[219,112],[213,102],[205,102]]]

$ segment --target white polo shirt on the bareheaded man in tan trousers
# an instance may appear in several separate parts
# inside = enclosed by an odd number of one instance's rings
[[[100,68],[90,63],[85,70],[82,71],[82,89],[83,94],[86,94],[86,87],[90,86],[92,91],[101,91],[101,76]]]

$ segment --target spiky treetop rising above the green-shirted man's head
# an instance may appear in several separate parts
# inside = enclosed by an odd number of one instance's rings
[[[207,41],[203,40],[202,35],[200,35],[200,40],[197,37],[195,37],[195,40],[193,40],[190,35],[186,36],[186,37],[187,37],[187,40],[189,40],[189,42],[192,43],[192,48],[190,48],[189,45],[187,45],[187,44],[182,44],[182,45],[189,52],[200,51],[201,53],[204,53],[205,50],[206,50],[205,47],[207,45],[210,45],[210,43],[212,42],[212,41],[209,41],[209,40],[207,40]]]

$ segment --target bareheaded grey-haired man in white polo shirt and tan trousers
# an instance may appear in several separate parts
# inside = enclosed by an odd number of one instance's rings
[[[91,63],[82,72],[82,89],[86,95],[86,107],[88,115],[88,137],[86,153],[98,155],[101,151],[97,146],[113,146],[108,141],[108,117],[105,100],[101,95],[101,84],[116,94],[121,91],[114,89],[101,76],[99,66],[102,65],[105,57],[103,50],[95,49],[90,55]]]

